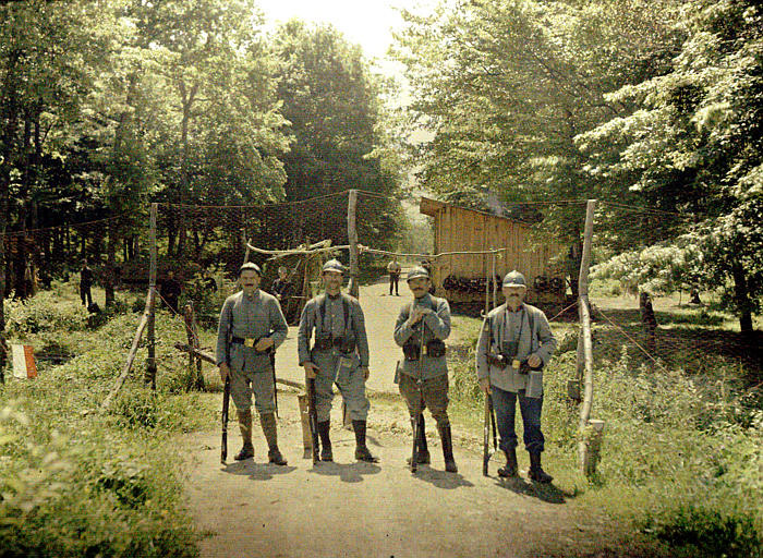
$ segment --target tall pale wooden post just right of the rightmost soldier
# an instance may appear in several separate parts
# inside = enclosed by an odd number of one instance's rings
[[[583,234],[583,255],[580,264],[578,310],[583,348],[583,404],[580,408],[578,435],[578,457],[581,472],[592,475],[595,472],[596,460],[592,459],[591,444],[588,439],[591,430],[590,418],[593,405],[593,344],[591,341],[591,306],[589,304],[589,266],[591,265],[591,243],[593,239],[593,215],[596,201],[589,199],[585,207],[585,231]],[[600,432],[603,432],[604,425]]]

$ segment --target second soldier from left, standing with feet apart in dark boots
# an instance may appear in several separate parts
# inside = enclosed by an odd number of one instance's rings
[[[334,461],[329,427],[332,385],[336,383],[355,432],[355,459],[375,463],[378,459],[371,454],[365,444],[366,417],[371,407],[365,397],[368,339],[360,303],[341,292],[343,274],[344,266],[337,259],[329,259],[323,266],[326,292],[305,304],[300,319],[300,366],[304,367],[307,378],[315,378],[320,459]],[[313,332],[315,339],[311,349]]]

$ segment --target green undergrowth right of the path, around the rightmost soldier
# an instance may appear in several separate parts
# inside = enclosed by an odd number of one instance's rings
[[[465,347],[450,352],[449,365],[453,403],[482,417],[475,326],[476,319],[456,322],[459,336],[467,333]],[[722,360],[689,374],[679,367],[651,369],[621,343],[619,353],[595,347],[594,416],[606,428],[597,478],[590,483],[569,473],[577,466],[580,438],[579,409],[567,399],[567,380],[576,376],[577,331],[559,335],[560,325],[552,328],[561,343],[544,371],[543,428],[550,466],[556,465],[561,483],[572,476],[569,482],[584,488],[580,498],[585,504],[629,519],[676,556],[759,556],[760,387],[746,388],[742,371]]]

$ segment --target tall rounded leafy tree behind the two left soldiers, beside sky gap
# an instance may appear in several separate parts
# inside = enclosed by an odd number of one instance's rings
[[[382,83],[370,74],[360,47],[330,26],[308,27],[294,20],[277,29],[272,43],[281,63],[278,95],[293,134],[292,149],[283,158],[287,201],[348,189],[380,194],[362,198],[359,234],[362,242],[389,245],[400,222],[399,204],[389,197],[399,177],[385,165],[390,159]],[[284,244],[302,242],[314,231],[347,240],[344,214],[336,210],[292,214],[290,228]]]

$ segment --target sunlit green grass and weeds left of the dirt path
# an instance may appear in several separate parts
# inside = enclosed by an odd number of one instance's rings
[[[161,363],[152,392],[140,378],[141,349],[133,377],[109,412],[98,412],[140,320],[135,298],[120,294],[117,312],[96,320],[74,283],[7,302],[9,340],[60,359],[38,352],[35,380],[0,386],[0,556],[197,556],[167,441],[210,424],[215,410],[203,395],[169,389],[184,374],[182,360]],[[181,320],[159,319],[157,328],[160,339],[165,328],[181,338]]]

